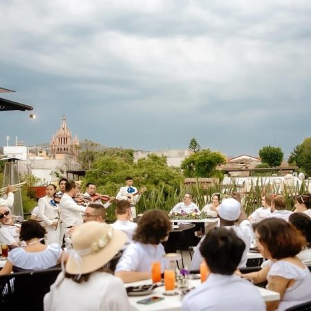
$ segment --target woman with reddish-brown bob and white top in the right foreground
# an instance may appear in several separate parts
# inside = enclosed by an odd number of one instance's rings
[[[267,281],[267,289],[279,292],[280,301],[267,302],[267,311],[283,311],[310,301],[311,273],[296,256],[305,237],[280,218],[267,218],[254,225],[257,246],[267,265],[258,272],[242,274],[254,283]]]

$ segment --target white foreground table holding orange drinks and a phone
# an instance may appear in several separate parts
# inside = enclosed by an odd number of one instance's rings
[[[151,285],[152,281],[144,280],[133,283],[124,283],[125,288],[130,286],[140,286],[140,285]],[[189,288],[196,288],[196,286],[200,285],[200,279],[191,279],[189,280]],[[280,294],[278,292],[273,292],[272,290],[266,290],[265,288],[259,288],[254,285],[258,292],[260,292],[264,301],[277,301],[280,299]],[[176,289],[178,292],[175,296],[164,296],[164,285],[158,286],[150,294],[144,296],[129,296],[129,301],[131,303],[132,310],[136,311],[180,311],[182,305],[182,295],[181,291]],[[164,299],[157,301],[155,303],[151,303],[149,305],[144,305],[138,303],[138,301],[142,299],[147,299],[152,296],[164,297]]]

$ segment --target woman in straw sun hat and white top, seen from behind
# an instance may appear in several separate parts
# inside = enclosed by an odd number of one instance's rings
[[[131,310],[121,279],[103,268],[126,243],[126,234],[91,221],[75,229],[72,242],[66,271],[44,297],[44,310]]]

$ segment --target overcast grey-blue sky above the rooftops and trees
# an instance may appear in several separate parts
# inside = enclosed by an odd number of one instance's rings
[[[226,156],[311,136],[311,1],[1,0],[1,140]]]

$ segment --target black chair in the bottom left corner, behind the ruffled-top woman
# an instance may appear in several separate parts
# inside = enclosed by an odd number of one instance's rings
[[[0,310],[44,310],[44,295],[61,271],[61,268],[53,268],[0,276]]]

